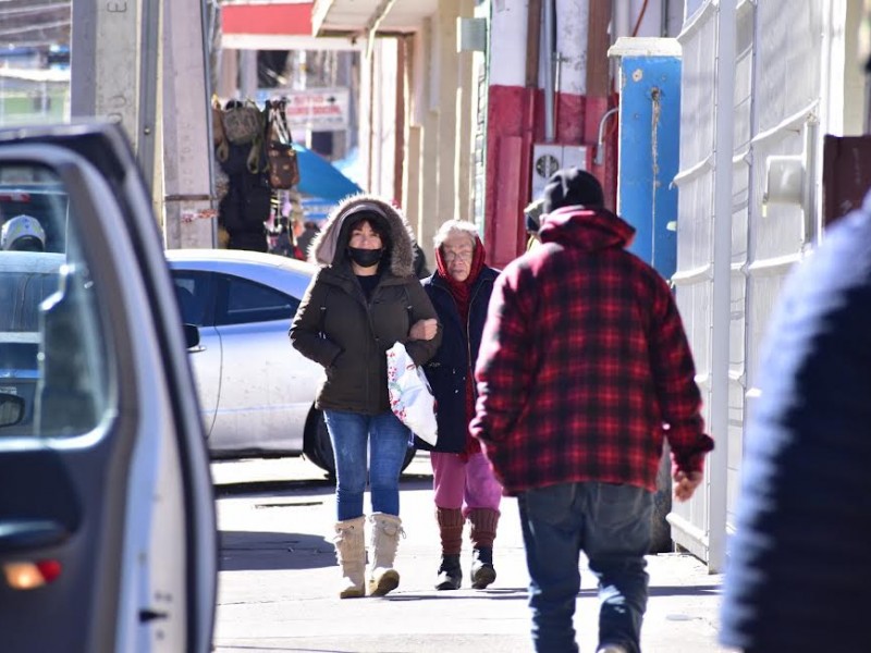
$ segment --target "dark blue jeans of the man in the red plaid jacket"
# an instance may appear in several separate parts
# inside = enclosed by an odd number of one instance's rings
[[[599,580],[599,645],[639,653],[653,494],[633,485],[564,483],[528,490],[518,505],[536,651],[578,651],[572,619],[584,551]]]

